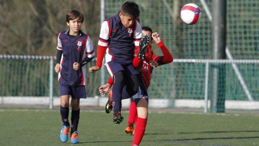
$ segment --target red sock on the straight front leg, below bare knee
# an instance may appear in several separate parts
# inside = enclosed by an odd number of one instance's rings
[[[140,144],[146,130],[146,125],[147,119],[138,117],[132,146],[138,146]]]

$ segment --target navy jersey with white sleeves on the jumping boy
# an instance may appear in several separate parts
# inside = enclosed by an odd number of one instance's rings
[[[124,27],[119,14],[102,23],[98,45],[107,47],[105,62],[132,63],[135,46],[139,46],[142,29],[135,20],[131,27]]]

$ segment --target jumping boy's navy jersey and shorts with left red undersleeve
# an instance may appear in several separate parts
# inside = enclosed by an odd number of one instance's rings
[[[137,74],[131,67],[134,58],[134,48],[139,46],[142,38],[140,24],[135,21],[131,27],[124,27],[119,14],[110,17],[102,23],[98,42],[97,66],[102,66],[105,49],[105,65],[111,76],[123,68],[127,68],[132,74]],[[120,64],[120,65],[118,65]]]

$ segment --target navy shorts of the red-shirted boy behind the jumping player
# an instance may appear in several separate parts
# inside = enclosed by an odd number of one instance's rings
[[[136,105],[138,104],[138,102],[140,101],[140,99],[142,97],[145,97],[145,99],[148,102],[147,88],[146,88],[146,86],[145,86],[145,84],[144,84],[144,82],[142,80],[141,73],[138,75],[138,78],[139,78],[139,90],[138,90],[137,94],[132,96],[132,98],[134,99]]]

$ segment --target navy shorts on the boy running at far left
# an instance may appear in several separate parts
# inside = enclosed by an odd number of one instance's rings
[[[59,84],[59,95],[71,95],[73,99],[86,98],[85,86],[69,86]]]

